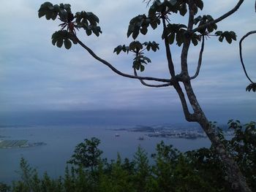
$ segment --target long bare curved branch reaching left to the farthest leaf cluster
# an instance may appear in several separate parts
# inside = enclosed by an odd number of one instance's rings
[[[120,72],[118,69],[116,69],[113,65],[111,65],[110,63],[108,63],[108,61],[105,61],[102,58],[99,58],[98,55],[96,55],[89,47],[87,47],[86,45],[83,44],[83,42],[81,42],[78,37],[75,36],[75,34],[73,34],[75,37],[75,40],[78,42],[79,45],[81,45],[85,50],[88,51],[88,53],[94,57],[97,61],[101,62],[102,64],[105,64],[106,66],[108,66],[113,72],[115,72],[116,74],[119,74],[123,77],[128,77],[128,78],[132,78],[132,79],[138,79],[138,80],[154,80],[154,81],[158,81],[158,82],[170,82],[170,80],[167,79],[160,79],[160,78],[155,78],[155,77],[140,77],[140,76],[134,76],[131,74],[125,74],[123,72]]]

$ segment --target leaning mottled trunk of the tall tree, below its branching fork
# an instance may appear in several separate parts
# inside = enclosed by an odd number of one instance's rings
[[[241,173],[238,165],[236,164],[230,153],[226,150],[225,146],[222,144],[217,134],[215,134],[214,128],[212,128],[211,124],[206,118],[206,115],[204,114],[203,110],[200,107],[200,104],[197,101],[191,83],[184,82],[184,86],[187,92],[189,102],[195,112],[195,122],[199,123],[200,126],[203,128],[203,131],[206,132],[207,137],[211,140],[211,144],[214,145],[215,150],[219,154],[220,158],[222,158],[223,163],[227,167],[227,177],[229,182],[231,183],[233,191],[252,192],[248,187],[246,179]]]

